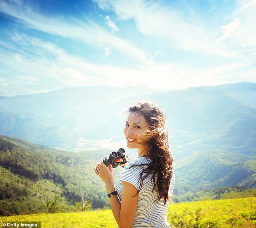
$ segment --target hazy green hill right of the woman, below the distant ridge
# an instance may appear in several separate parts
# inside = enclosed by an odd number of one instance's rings
[[[220,186],[255,188],[255,167],[255,156],[225,151],[198,152],[177,161],[176,184],[184,191]]]

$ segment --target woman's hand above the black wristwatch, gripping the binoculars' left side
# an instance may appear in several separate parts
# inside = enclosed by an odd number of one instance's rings
[[[97,163],[97,166],[94,167],[94,172],[101,178],[101,180],[106,184],[113,184],[114,183],[114,172],[112,169],[112,164],[109,164],[107,167],[103,162],[104,159],[101,159]]]

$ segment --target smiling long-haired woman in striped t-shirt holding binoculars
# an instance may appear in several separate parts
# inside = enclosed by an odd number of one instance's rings
[[[174,158],[164,112],[150,102],[134,103],[128,109],[124,135],[138,158],[126,163],[116,191],[112,166],[106,167],[101,159],[94,167],[105,183],[115,220],[120,228],[170,227],[166,213],[174,187]]]

